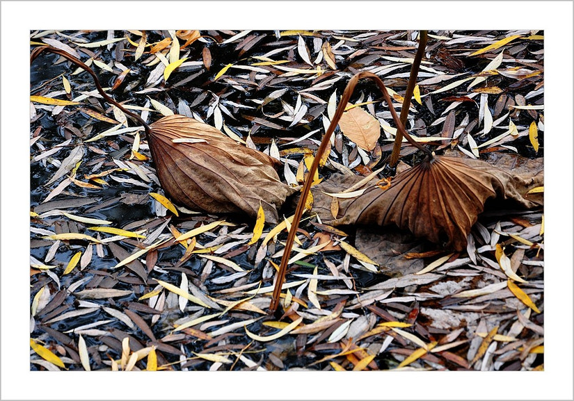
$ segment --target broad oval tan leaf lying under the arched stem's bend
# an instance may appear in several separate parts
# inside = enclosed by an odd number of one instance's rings
[[[376,118],[360,107],[345,111],[339,120],[339,127],[347,138],[365,150],[373,150],[381,136],[381,126]]]

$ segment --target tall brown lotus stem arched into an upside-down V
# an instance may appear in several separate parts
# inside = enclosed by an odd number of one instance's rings
[[[381,78],[379,78],[372,72],[359,72],[358,74],[353,76],[353,78],[351,78],[349,83],[347,83],[346,85],[346,88],[341,97],[341,101],[339,102],[339,106],[337,106],[337,111],[335,111],[335,116],[333,117],[333,120],[330,122],[327,132],[323,137],[323,140],[321,140],[321,145],[319,145],[319,149],[317,149],[317,154],[313,159],[313,164],[309,169],[309,173],[307,175],[307,178],[305,179],[303,189],[301,189],[301,199],[299,199],[299,203],[297,204],[297,208],[295,209],[295,215],[293,218],[293,222],[291,224],[291,229],[289,230],[289,235],[287,236],[287,243],[285,243],[285,250],[283,251],[281,264],[279,266],[279,271],[277,273],[275,287],[273,288],[273,297],[271,298],[271,304],[269,305],[271,313],[276,311],[277,306],[279,304],[279,298],[281,295],[281,286],[283,285],[283,281],[285,281],[285,275],[287,274],[287,261],[289,261],[289,255],[291,254],[291,250],[293,249],[295,235],[297,233],[301,217],[303,216],[303,211],[305,209],[305,202],[307,201],[307,197],[309,195],[314,174],[317,171],[317,168],[319,167],[319,161],[321,160],[321,155],[324,154],[330,136],[333,134],[333,131],[335,131],[335,126],[337,126],[337,123],[339,122],[341,116],[343,115],[343,112],[345,111],[346,108],[346,104],[349,102],[349,99],[351,99],[351,95],[353,94],[353,91],[355,90],[355,87],[359,79],[361,78],[372,79],[376,83],[378,88],[381,90],[381,92],[383,92],[383,97],[385,98],[385,101],[389,106],[392,119],[394,120],[394,124],[397,124],[397,130],[399,131],[399,133],[401,133],[406,138],[406,140],[408,140],[410,145],[413,145],[417,149],[422,150],[422,152],[425,152],[428,158],[433,158],[432,152],[426,147],[420,145],[420,143],[415,142],[415,140],[413,140],[413,138],[411,138],[411,136],[408,135],[408,133],[404,129],[404,126],[401,123],[399,116],[397,115],[397,111],[395,111],[394,106],[392,106],[392,101],[390,99],[389,93],[387,91],[387,88],[385,88],[385,84],[383,83]]]

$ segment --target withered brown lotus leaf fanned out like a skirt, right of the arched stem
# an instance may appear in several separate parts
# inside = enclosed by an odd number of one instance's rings
[[[523,179],[480,160],[435,156],[397,174],[388,189],[371,187],[342,205],[337,224],[394,224],[461,251],[487,199],[540,206],[524,195],[542,180],[541,175]]]

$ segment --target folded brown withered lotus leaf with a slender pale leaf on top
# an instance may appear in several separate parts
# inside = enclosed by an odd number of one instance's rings
[[[275,159],[193,118],[170,115],[150,124],[149,143],[162,188],[193,210],[257,218],[261,202],[265,220],[276,223],[277,209],[294,193],[279,180]]]

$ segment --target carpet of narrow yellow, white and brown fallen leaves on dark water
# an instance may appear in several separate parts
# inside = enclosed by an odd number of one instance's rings
[[[293,191],[353,74],[381,76],[400,108],[416,38],[31,33],[32,47],[49,44],[93,67],[106,92],[144,120],[193,117],[278,160]],[[542,43],[537,31],[430,31],[407,129],[437,154],[539,177]],[[372,85],[357,93],[315,177],[278,320],[266,309],[289,202],[272,218],[263,207],[248,218],[170,202],[142,127],[102,101],[81,69],[54,55],[38,59],[31,368],[543,369],[542,208],[487,204],[461,252],[397,229],[329,224],[365,183],[390,177],[385,158],[396,130],[388,106]],[[405,142],[399,169],[417,161],[416,150]],[[201,185],[216,190],[209,179]],[[535,186],[525,197],[542,192]]]

